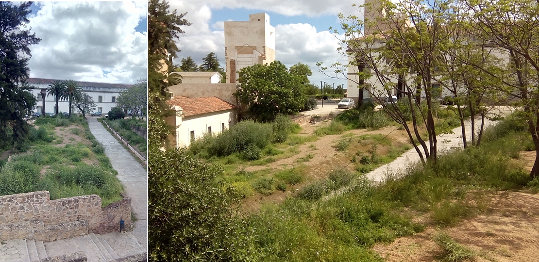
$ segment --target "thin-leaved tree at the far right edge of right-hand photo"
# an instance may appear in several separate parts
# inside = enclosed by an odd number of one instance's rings
[[[508,70],[496,72],[470,63],[487,74],[501,79],[523,108],[523,117],[533,139],[536,160],[531,178],[539,175],[539,3],[531,0],[466,0],[465,12],[474,36],[493,44],[509,56]]]

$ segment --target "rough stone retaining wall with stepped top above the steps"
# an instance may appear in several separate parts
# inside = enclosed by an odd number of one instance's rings
[[[131,223],[131,199],[101,208],[98,195],[50,200],[49,191],[0,196],[0,241],[28,238],[50,242],[119,230]]]

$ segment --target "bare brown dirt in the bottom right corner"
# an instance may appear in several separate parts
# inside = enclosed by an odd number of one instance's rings
[[[523,151],[519,161],[530,171],[535,151]],[[462,220],[445,229],[458,243],[478,252],[475,261],[539,261],[539,194],[500,191],[491,196],[484,215]],[[378,244],[373,250],[386,261],[434,261],[441,249],[432,237],[434,226],[391,244]]]

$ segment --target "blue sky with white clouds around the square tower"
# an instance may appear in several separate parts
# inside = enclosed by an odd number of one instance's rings
[[[363,4],[363,0],[170,0],[170,9],[178,13],[188,12],[185,18],[192,24],[183,26],[185,31],[177,45],[175,64],[191,56],[198,65],[209,52],[215,52],[224,67],[224,21],[247,21],[250,13],[266,12],[269,23],[275,27],[275,59],[287,67],[296,63],[309,65],[313,71],[310,81],[320,85],[320,81],[343,84],[345,80],[329,78],[318,73],[316,62],[330,65],[347,59],[337,53],[338,39],[329,31],[341,29],[337,19],[339,12],[345,15],[361,14],[352,4]]]

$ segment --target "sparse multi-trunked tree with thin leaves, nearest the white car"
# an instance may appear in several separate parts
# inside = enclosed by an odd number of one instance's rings
[[[360,95],[365,81],[381,86],[364,89],[372,98],[395,94],[398,102],[381,103],[384,112],[404,127],[422,163],[436,162],[437,158],[437,130],[433,116],[437,102],[432,82],[438,81],[433,73],[436,59],[451,42],[445,30],[447,24],[455,22],[451,3],[444,0],[429,3],[381,0],[375,5],[357,8],[362,15],[363,10],[381,14],[379,19],[364,22],[363,16],[359,16],[360,19],[339,15],[345,38],[341,39],[342,46],[338,51],[351,58],[351,62],[332,64],[336,77],[348,79],[347,70],[353,67],[357,78],[351,80],[361,89]],[[372,29],[372,34],[365,35],[365,25]],[[337,30],[335,33],[338,34]],[[321,63],[319,67],[322,72],[328,71]],[[425,97],[423,102],[421,96]],[[421,137],[419,125],[426,127],[427,141]]]

